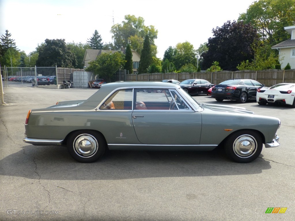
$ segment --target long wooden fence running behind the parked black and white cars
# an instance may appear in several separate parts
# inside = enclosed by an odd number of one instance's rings
[[[261,70],[261,71],[218,71],[218,72],[195,72],[195,73],[153,73],[153,74],[129,74],[125,75],[126,81],[161,81],[174,79],[180,82],[187,79],[204,79],[212,84],[219,84],[228,79],[253,79],[271,87],[278,83],[295,83],[295,69],[291,70]]]

